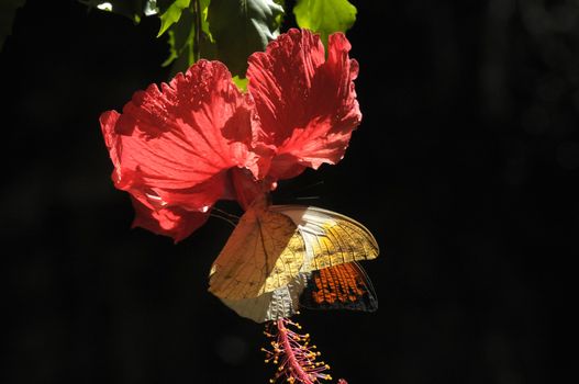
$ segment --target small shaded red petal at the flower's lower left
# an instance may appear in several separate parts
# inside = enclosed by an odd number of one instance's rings
[[[190,212],[180,207],[153,210],[134,197],[132,201],[135,208],[133,227],[142,227],[158,235],[170,236],[175,242],[191,235],[209,217],[209,213]]]

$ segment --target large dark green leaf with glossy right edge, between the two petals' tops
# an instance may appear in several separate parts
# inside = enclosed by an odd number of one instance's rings
[[[233,75],[245,77],[247,57],[278,36],[281,14],[274,0],[211,0],[209,29],[219,59]]]

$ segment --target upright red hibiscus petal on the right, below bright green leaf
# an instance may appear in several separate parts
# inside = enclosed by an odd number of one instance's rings
[[[361,120],[344,34],[330,36],[327,60],[319,36],[290,30],[249,57],[248,89],[261,121],[260,142],[277,147],[269,174],[288,178],[303,167],[335,163]]]

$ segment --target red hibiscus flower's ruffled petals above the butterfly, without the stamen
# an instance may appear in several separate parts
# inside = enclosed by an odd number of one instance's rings
[[[246,207],[279,179],[339,161],[361,118],[349,48],[334,34],[326,58],[319,36],[290,30],[249,57],[246,93],[223,64],[200,60],[136,92],[122,113],[104,112],[112,179],[132,196],[133,225],[179,241],[218,200]]]

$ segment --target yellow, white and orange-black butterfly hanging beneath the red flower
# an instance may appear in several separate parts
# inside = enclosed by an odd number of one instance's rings
[[[378,257],[371,233],[336,212],[304,205],[252,205],[210,272],[209,291],[257,323],[300,307],[375,310],[360,260]]]

